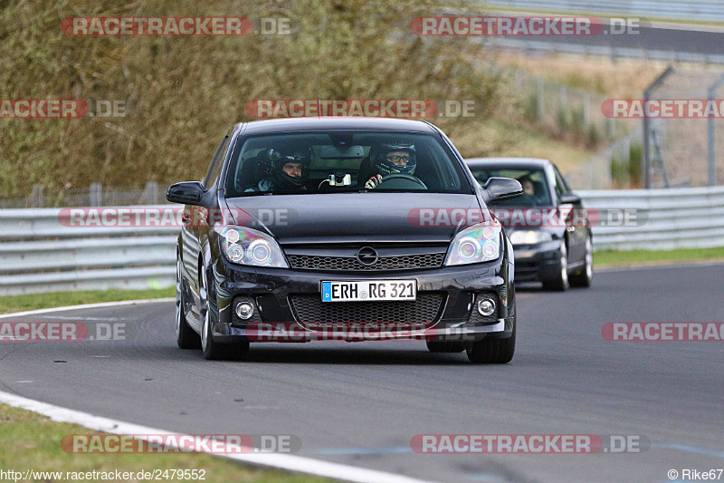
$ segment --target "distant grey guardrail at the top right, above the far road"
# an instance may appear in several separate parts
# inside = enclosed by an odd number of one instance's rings
[[[724,22],[724,5],[710,0],[487,0],[488,6],[548,12],[649,16]]]

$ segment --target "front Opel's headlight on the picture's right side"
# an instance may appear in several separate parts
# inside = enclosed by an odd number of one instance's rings
[[[484,223],[467,227],[450,244],[445,265],[467,265],[489,262],[500,256],[500,227]]]

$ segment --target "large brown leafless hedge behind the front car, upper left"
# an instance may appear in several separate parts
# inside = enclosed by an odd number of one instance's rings
[[[0,91],[8,99],[123,100],[125,118],[3,121],[0,197],[46,196],[105,186],[199,179],[252,99],[472,100],[496,110],[500,81],[473,65],[488,56],[464,37],[422,37],[410,19],[437,3],[292,0],[59,0],[0,9]],[[446,7],[455,8],[462,4]],[[291,35],[242,37],[67,36],[66,16],[248,16],[291,19]],[[433,119],[461,131],[463,118]]]

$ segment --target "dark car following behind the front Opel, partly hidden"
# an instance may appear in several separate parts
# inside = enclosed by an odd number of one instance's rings
[[[466,159],[480,183],[491,177],[518,179],[524,193],[491,209],[515,249],[518,282],[542,282],[552,290],[588,287],[593,280],[591,221],[581,197],[548,159]]]

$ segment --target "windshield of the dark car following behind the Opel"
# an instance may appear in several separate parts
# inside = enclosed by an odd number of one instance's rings
[[[523,187],[523,194],[501,201],[492,201],[491,206],[499,205],[506,207],[550,207],[552,206],[550,190],[546,182],[546,173],[543,169],[537,168],[471,168],[472,176],[481,185],[493,177],[518,179]]]

